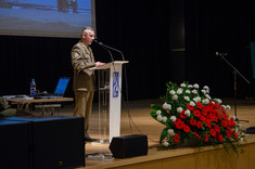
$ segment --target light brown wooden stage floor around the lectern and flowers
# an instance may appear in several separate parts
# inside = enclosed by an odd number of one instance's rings
[[[228,114],[234,115],[233,99],[222,99],[225,105],[230,105],[231,110]],[[156,147],[158,146],[158,140],[163,125],[154,120],[150,116],[151,104],[162,105],[160,100],[141,100],[131,101],[129,103],[123,104],[122,107],[122,123],[120,123],[120,135],[128,134],[145,134],[148,135],[149,143],[149,155],[157,154]],[[54,116],[72,116],[74,105],[66,105],[64,108],[59,109]],[[40,115],[39,112],[35,114]],[[254,100],[238,100],[237,101],[237,116],[241,120],[242,129],[245,130],[247,127],[255,127],[255,101]],[[92,118],[90,123],[89,133],[91,138],[100,138],[99,134],[99,114],[98,105],[94,103],[92,110]],[[242,121],[242,120],[248,120]],[[246,140],[250,142],[255,142],[255,134],[246,134]],[[110,143],[87,143],[86,144],[86,168],[104,168],[104,165],[110,167],[114,164],[131,162],[129,159],[114,159],[111,157],[111,151],[109,150]],[[173,155],[180,155],[184,152],[194,152],[194,148],[181,148],[181,150],[170,150]],[[142,160],[139,157],[133,157],[138,160]],[[132,158],[132,159],[133,159]],[[135,159],[136,160],[136,159]],[[110,165],[110,166],[109,166]],[[107,168],[105,166],[105,168]],[[116,165],[115,165],[116,167]],[[81,167],[82,168],[82,167]],[[80,168],[80,169],[81,169]]]

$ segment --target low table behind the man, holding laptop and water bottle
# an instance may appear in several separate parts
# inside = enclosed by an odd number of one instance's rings
[[[30,104],[37,104],[35,105],[36,108],[42,109],[42,115],[46,114],[46,109],[51,109],[51,115],[54,114],[54,108],[61,107],[62,102],[73,102],[73,98],[47,98],[47,99],[33,99],[33,98],[13,98],[13,99],[5,99],[11,104],[17,105],[17,112],[21,112],[23,108],[25,112],[29,113],[29,105]],[[49,104],[50,103],[50,104]]]

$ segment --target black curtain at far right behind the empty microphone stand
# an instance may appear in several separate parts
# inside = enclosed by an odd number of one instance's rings
[[[251,81],[238,75],[238,96],[251,95],[254,88],[250,41],[254,40],[252,1],[184,1],[187,77],[207,84],[213,95],[233,96],[233,70],[216,52]]]

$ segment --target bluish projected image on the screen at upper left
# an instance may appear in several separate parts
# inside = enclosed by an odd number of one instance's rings
[[[91,0],[0,0],[1,35],[78,37],[91,17]]]

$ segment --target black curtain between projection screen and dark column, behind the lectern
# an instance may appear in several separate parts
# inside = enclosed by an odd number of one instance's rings
[[[170,80],[168,1],[95,2],[98,38],[123,51],[129,61],[126,69],[130,100],[164,95],[165,83]],[[114,54],[115,60],[122,60]],[[104,56],[110,57],[106,53]]]

